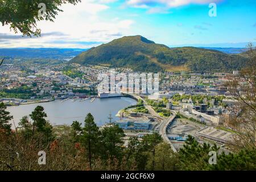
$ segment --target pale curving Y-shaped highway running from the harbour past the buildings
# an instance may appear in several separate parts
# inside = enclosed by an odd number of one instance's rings
[[[170,144],[172,150],[174,152],[177,152],[177,150],[175,149],[174,145],[171,143],[170,139],[167,137],[166,134],[166,130],[167,130],[167,126],[174,120],[174,118],[176,117],[176,111],[171,111],[172,115],[170,117],[163,118],[161,117],[158,113],[156,113],[156,111],[150,106],[147,105],[147,102],[140,96],[136,95],[136,94],[132,94],[132,93],[128,93],[130,96],[133,96],[134,98],[136,98],[137,100],[142,100],[143,101],[143,105],[144,107],[146,107],[146,109],[149,111],[149,113],[160,119],[161,123],[159,124],[159,133],[162,136],[162,138],[164,139],[164,141],[166,141],[167,143]]]

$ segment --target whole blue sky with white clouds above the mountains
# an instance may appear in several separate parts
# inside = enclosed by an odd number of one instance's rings
[[[216,16],[213,6],[216,5]],[[47,8],[47,7],[46,7]],[[0,26],[0,48],[90,48],[142,35],[169,47],[245,47],[256,42],[255,0],[82,0],[63,5],[40,38]]]

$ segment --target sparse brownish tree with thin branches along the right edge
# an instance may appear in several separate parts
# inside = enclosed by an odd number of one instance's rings
[[[236,130],[234,150],[256,147],[256,53],[252,44],[246,52],[249,59],[240,74],[226,83],[239,111],[229,127]]]

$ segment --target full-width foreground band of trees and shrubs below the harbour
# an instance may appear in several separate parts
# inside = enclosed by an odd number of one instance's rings
[[[0,119],[9,121],[6,107],[0,104]],[[123,147],[122,129],[113,123],[98,129],[92,114],[85,118],[84,127],[74,121],[69,126],[55,130],[57,139],[46,138],[43,107],[36,107],[30,117],[20,119],[18,133],[0,133],[1,170],[255,170],[255,148],[244,148],[229,154],[217,154],[217,164],[210,165],[210,151],[219,148],[207,143],[200,144],[190,135],[184,146],[174,153],[170,144],[164,143],[158,133],[147,134],[141,140],[131,137],[127,147]],[[3,121],[3,120],[1,120]],[[75,134],[75,135],[74,135]],[[74,138],[75,137],[75,138]],[[37,163],[38,151],[47,152],[47,164]],[[19,158],[16,158],[17,153]]]

